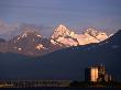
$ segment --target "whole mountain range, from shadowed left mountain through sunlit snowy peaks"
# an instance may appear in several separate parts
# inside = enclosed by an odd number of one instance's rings
[[[77,34],[63,24],[58,25],[48,38],[34,27],[23,27],[22,31],[20,35],[9,41],[1,38],[0,52],[42,56],[65,47],[99,43],[109,37],[107,33],[96,29],[88,29],[82,34]]]

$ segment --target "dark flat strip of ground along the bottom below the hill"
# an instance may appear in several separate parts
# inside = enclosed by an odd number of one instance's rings
[[[66,89],[121,88],[121,82],[79,82],[72,80],[0,80],[0,88]]]

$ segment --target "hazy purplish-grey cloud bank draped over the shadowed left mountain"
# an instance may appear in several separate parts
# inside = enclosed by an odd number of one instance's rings
[[[48,36],[48,30],[53,30],[52,26],[48,25],[37,25],[37,24],[30,24],[30,23],[6,23],[3,21],[0,21],[0,37],[10,40],[11,37],[14,37],[16,35],[20,35],[25,27],[31,29],[32,31],[37,31],[43,36]]]

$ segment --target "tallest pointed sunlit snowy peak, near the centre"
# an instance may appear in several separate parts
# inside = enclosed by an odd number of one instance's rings
[[[59,25],[55,29],[51,43],[59,46],[77,46],[78,42],[73,37],[75,33],[69,31],[65,25]]]

